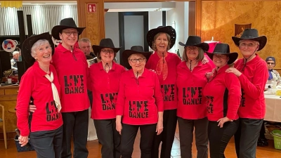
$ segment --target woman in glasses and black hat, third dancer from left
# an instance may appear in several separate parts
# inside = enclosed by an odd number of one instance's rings
[[[90,77],[93,90],[91,118],[96,126],[98,141],[103,145],[103,158],[120,158],[120,135],[116,131],[115,107],[119,81],[125,68],[113,62],[120,48],[115,48],[112,39],[101,39],[93,45],[93,51],[101,62],[91,65]]]

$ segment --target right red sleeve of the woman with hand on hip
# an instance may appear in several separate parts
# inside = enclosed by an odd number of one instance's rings
[[[241,101],[241,85],[239,79],[233,73],[226,73],[226,88],[228,88],[228,119],[236,119]]]

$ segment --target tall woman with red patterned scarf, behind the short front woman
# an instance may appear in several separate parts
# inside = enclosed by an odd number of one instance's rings
[[[161,158],[171,157],[171,147],[176,131],[176,66],[181,62],[176,53],[168,52],[176,41],[176,30],[171,26],[150,29],[146,37],[148,45],[155,53],[151,55],[146,68],[155,70],[164,98],[164,116],[162,134],[155,134],[152,157],[159,157],[159,145],[162,142]]]

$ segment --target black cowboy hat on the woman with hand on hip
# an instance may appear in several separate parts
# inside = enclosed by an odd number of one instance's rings
[[[228,65],[232,64],[235,62],[235,60],[238,58],[238,53],[233,52],[230,53],[229,45],[228,44],[216,44],[216,47],[214,48],[214,52],[206,52],[209,58],[213,60],[214,54],[222,54],[222,55],[228,55],[229,60],[228,60]]]

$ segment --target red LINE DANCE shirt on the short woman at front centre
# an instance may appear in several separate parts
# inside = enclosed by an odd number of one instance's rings
[[[145,69],[136,79],[133,70],[124,72],[120,79],[116,115],[131,125],[155,124],[158,112],[163,112],[163,97],[157,74]]]

